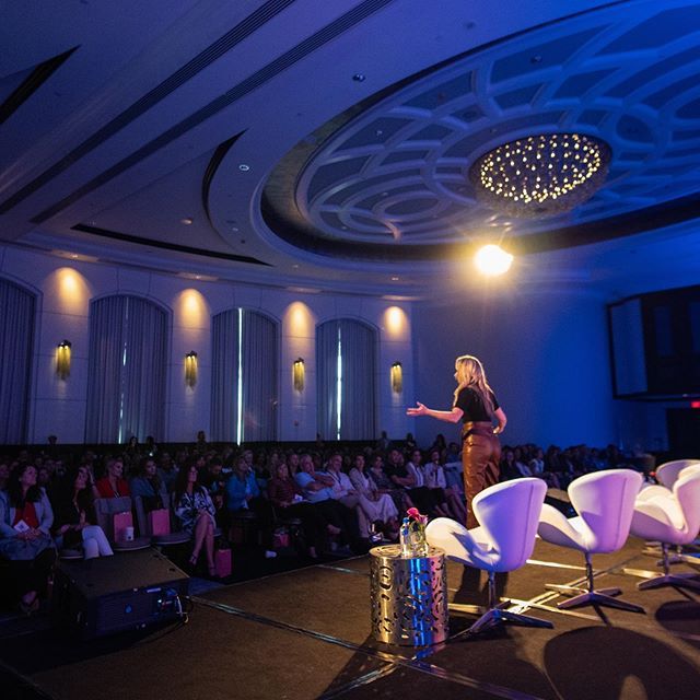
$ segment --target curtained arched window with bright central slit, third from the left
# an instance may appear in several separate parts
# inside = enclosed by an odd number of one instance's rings
[[[212,318],[212,439],[277,440],[277,323],[232,308]]]

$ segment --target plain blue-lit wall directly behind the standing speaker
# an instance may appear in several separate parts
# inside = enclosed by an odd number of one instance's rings
[[[413,343],[415,398],[431,408],[450,408],[457,355],[483,362],[509,418],[503,443],[618,442],[605,300],[597,295],[511,290],[462,303],[417,304]],[[421,445],[439,432],[448,440],[459,434],[457,427],[429,418],[413,425]]]

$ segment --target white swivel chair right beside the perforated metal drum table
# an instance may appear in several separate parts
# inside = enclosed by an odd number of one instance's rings
[[[469,628],[469,633],[500,622],[552,627],[547,620],[504,610],[509,602],[499,605],[495,599],[495,573],[518,569],[533,553],[546,493],[547,485],[541,479],[513,479],[489,487],[474,499],[480,527],[467,529],[447,517],[428,524],[425,538],[432,547],[443,549],[448,559],[489,575],[489,609]]]

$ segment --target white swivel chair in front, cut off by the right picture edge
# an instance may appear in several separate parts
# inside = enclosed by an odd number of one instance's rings
[[[637,585],[640,591],[667,585],[700,590],[698,574],[669,573],[668,559],[670,545],[688,545],[700,532],[700,465],[685,468],[673,490],[663,487],[644,489],[637,498],[630,532],[637,537],[661,542],[663,574],[625,570],[652,576]]]

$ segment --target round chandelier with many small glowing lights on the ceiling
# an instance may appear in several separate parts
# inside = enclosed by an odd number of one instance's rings
[[[477,197],[510,217],[552,217],[590,199],[603,185],[610,149],[581,133],[542,133],[504,143],[469,168]]]

